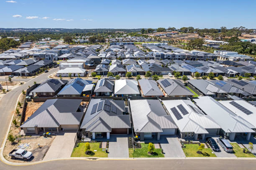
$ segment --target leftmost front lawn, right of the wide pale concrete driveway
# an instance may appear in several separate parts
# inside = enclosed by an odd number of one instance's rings
[[[102,151],[100,148],[100,142],[90,142],[90,150],[93,152],[92,155],[85,154],[84,145],[85,143],[79,143],[79,147],[73,149],[71,157],[108,157],[108,153]]]

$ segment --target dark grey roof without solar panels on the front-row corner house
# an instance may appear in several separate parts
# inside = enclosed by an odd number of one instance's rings
[[[80,99],[46,100],[20,127],[59,127],[61,124],[79,125],[83,112],[77,112]]]

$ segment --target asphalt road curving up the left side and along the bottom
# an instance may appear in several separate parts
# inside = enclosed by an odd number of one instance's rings
[[[33,82],[42,82],[54,73],[58,68],[51,69],[48,73],[30,79],[26,84],[8,92],[0,100],[0,144],[2,145],[12,112],[16,107],[18,96],[22,90],[32,86]],[[3,149],[3,148],[1,148]],[[57,160],[36,165],[11,166],[0,162],[0,170],[253,170],[256,160],[212,160],[212,159],[174,159],[174,160]]]

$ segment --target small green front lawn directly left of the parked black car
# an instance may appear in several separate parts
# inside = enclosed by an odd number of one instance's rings
[[[210,148],[205,148],[202,150],[202,154],[198,154],[198,147],[197,144],[186,144],[186,147],[182,148],[186,157],[216,157]]]

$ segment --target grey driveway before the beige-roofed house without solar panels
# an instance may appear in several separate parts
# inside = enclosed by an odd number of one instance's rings
[[[160,140],[145,140],[145,142],[160,143],[165,157],[185,157],[176,135],[163,135]]]

